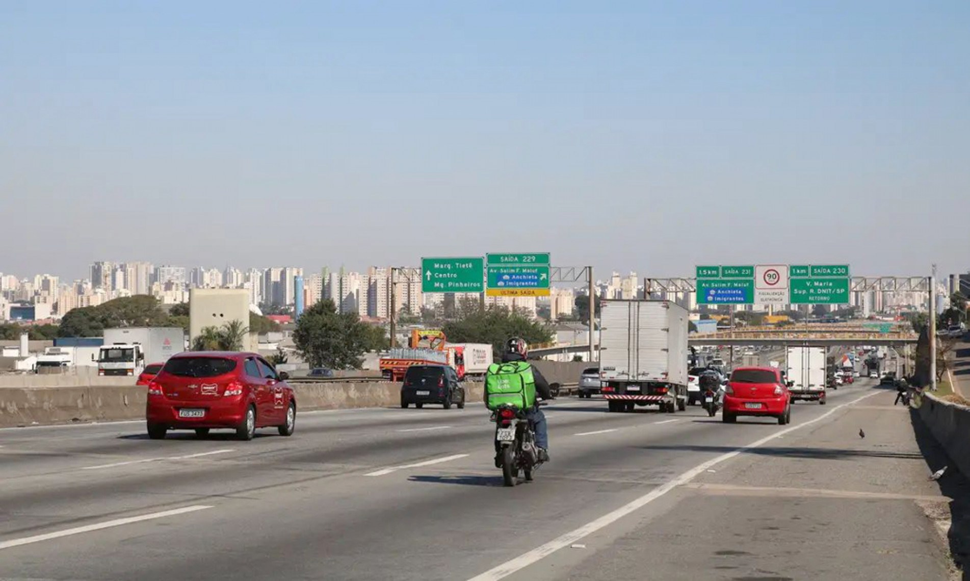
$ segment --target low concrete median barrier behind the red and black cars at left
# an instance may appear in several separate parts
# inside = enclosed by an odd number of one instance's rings
[[[299,409],[387,407],[401,403],[401,384],[390,382],[297,383]],[[465,383],[466,401],[481,402],[483,385]],[[133,420],[145,417],[142,386],[23,387],[0,389],[0,428]]]

